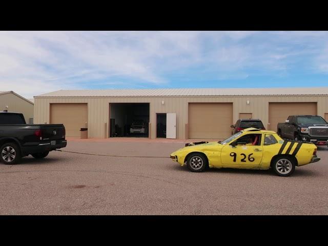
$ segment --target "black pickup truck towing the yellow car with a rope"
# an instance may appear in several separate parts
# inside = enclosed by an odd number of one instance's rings
[[[28,155],[44,158],[66,147],[65,134],[63,124],[27,125],[21,113],[0,112],[1,160],[12,165]]]

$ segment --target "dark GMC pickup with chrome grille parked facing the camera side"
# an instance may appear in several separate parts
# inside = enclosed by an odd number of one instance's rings
[[[291,115],[284,123],[278,123],[281,138],[328,145],[328,123],[318,115]]]

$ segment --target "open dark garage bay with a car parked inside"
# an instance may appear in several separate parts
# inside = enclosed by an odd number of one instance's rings
[[[148,137],[149,103],[111,103],[109,137]]]

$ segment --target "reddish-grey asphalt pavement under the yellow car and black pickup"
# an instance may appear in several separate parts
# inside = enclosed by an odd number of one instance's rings
[[[192,173],[169,157],[184,144],[68,142],[42,160],[0,164],[1,215],[327,215],[328,148],[290,177],[271,170]],[[111,157],[122,155],[141,157]],[[156,156],[148,158],[147,156]]]

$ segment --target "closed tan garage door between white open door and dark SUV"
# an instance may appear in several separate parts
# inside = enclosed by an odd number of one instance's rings
[[[232,103],[189,104],[189,138],[227,138],[232,124]]]

